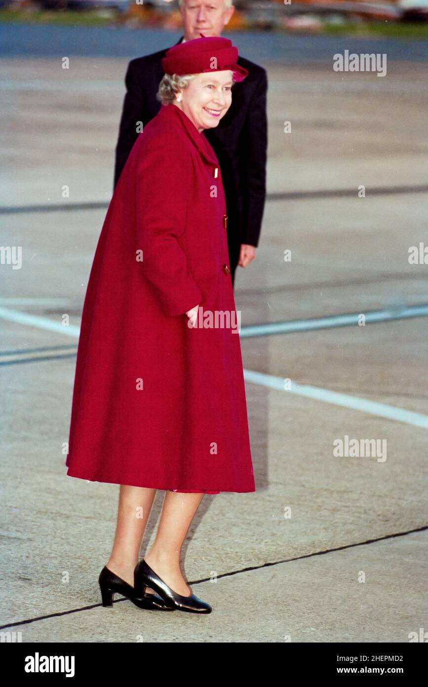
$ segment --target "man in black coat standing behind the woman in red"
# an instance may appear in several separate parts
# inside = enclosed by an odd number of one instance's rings
[[[179,0],[185,36],[178,43],[219,36],[235,8],[232,0]],[[176,45],[178,45],[176,43]],[[161,60],[168,48],[131,60],[126,72],[126,95],[116,146],[115,185],[140,131],[158,113],[156,93],[163,78]],[[266,194],[268,122],[265,69],[239,57],[248,76],[232,87],[232,104],[215,128],[204,135],[217,155],[228,214],[228,251],[232,283],[237,264],[246,267],[259,244]]]

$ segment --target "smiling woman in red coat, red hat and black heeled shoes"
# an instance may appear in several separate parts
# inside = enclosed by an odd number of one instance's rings
[[[163,107],[112,196],[82,313],[67,475],[120,484],[112,553],[99,576],[142,608],[209,613],[179,556],[204,493],[254,492],[226,202],[203,135],[248,72],[226,38],[169,49]],[[139,561],[156,489],[156,539]]]

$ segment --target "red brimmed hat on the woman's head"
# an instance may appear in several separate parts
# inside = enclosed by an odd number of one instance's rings
[[[170,47],[162,60],[165,74],[202,74],[206,71],[233,71],[233,80],[242,81],[248,76],[244,67],[237,65],[238,50],[228,38],[209,36]]]

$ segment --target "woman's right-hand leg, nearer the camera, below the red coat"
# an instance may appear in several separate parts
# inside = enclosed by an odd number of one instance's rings
[[[172,491],[165,493],[156,539],[150,552],[144,556],[147,565],[182,596],[189,596],[191,589],[181,574],[180,550],[203,495]]]

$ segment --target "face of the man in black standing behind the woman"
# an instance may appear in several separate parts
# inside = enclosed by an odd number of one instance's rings
[[[186,41],[204,36],[219,36],[235,8],[224,0],[184,0],[180,8]]]

